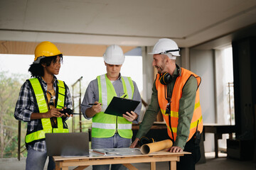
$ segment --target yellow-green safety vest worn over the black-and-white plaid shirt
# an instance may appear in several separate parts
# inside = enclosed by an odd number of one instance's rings
[[[36,106],[38,107],[39,113],[48,112],[48,102],[46,93],[44,93],[43,86],[37,78],[29,79],[28,83],[33,91],[33,96],[36,98]],[[55,103],[57,103],[56,108],[63,108],[65,103],[65,84],[63,81],[58,80],[58,86],[56,87],[56,98]],[[27,132],[26,143],[37,142],[44,140],[46,138],[46,133],[52,132],[68,132],[68,127],[64,123],[62,118],[57,118],[58,128],[53,128],[50,123],[50,118],[41,118],[38,123],[38,129],[33,132]]]

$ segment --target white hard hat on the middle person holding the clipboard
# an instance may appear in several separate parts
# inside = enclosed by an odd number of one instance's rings
[[[124,63],[124,52],[118,45],[110,45],[107,47],[103,58],[107,64],[121,65]]]

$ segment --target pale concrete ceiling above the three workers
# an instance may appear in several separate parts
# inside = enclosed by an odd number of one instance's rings
[[[255,0],[0,0],[1,41],[192,47],[255,23]]]

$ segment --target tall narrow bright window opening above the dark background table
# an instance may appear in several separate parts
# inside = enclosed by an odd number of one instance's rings
[[[233,86],[233,52],[232,47],[215,50],[215,101],[216,123],[235,125],[234,86]],[[220,150],[225,152],[228,134],[218,140]]]

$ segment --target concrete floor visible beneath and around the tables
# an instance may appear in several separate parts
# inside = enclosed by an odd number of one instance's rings
[[[219,158],[214,158],[214,152],[206,153],[206,163],[205,164],[196,164],[196,170],[252,170],[256,169],[256,164],[254,162],[241,162],[235,159],[226,158],[226,154],[219,153]],[[10,159],[0,159],[0,170],[21,170],[25,169],[26,158],[21,158],[21,161],[18,161],[16,158]],[[149,163],[142,164],[133,164],[139,170],[146,170],[150,168]],[[69,169],[74,169],[75,167],[70,167]],[[46,169],[46,168],[45,168]],[[86,170],[91,170],[92,167],[89,166]],[[156,163],[156,169],[169,169],[168,162],[159,162]]]

